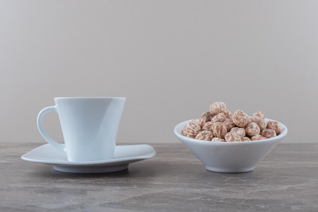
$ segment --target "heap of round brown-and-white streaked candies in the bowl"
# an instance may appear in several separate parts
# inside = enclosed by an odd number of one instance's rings
[[[231,142],[272,138],[281,131],[278,122],[265,122],[262,111],[256,111],[252,116],[242,110],[232,114],[224,102],[214,102],[209,109],[200,118],[188,123],[182,135],[199,140]]]

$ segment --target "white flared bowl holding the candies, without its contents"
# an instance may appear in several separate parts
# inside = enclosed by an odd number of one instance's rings
[[[271,119],[265,118],[266,123]],[[278,136],[257,141],[215,142],[202,141],[182,135],[191,120],[178,124],[174,133],[180,141],[205,165],[209,171],[238,173],[252,171],[256,165],[287,134],[287,127],[280,124]]]

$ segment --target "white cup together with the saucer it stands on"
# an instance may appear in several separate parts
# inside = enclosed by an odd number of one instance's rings
[[[38,115],[38,128],[48,142],[21,156],[25,161],[53,165],[61,172],[105,173],[121,171],[130,163],[155,156],[147,144],[116,145],[125,98],[55,98],[55,106]],[[65,144],[53,140],[43,127],[43,116],[56,112]]]

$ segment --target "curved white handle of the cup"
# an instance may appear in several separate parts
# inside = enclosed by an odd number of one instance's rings
[[[51,138],[51,136],[49,136],[49,134],[45,131],[44,127],[43,127],[43,117],[46,113],[48,112],[56,112],[56,106],[50,106],[50,107],[46,107],[43,110],[40,111],[39,115],[38,115],[38,129],[41,133],[41,135],[43,136],[43,138],[52,146],[54,146],[55,148],[57,148],[58,150],[65,152],[64,150],[64,146],[60,143],[57,143],[53,138]]]

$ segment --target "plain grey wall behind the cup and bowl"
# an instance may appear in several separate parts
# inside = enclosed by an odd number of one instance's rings
[[[0,139],[45,143],[54,97],[119,96],[118,142],[178,142],[223,101],[317,143],[317,38],[318,1],[0,1]]]

